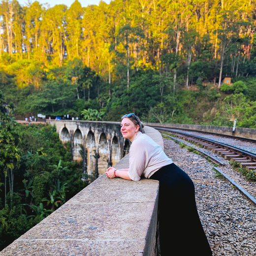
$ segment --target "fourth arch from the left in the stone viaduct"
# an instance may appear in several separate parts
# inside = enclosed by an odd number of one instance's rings
[[[107,145],[107,137],[105,133],[100,134],[98,153],[99,153],[98,173],[104,174],[108,167],[108,145]]]

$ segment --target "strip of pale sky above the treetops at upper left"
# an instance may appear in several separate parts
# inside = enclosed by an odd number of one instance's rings
[[[50,7],[53,7],[56,4],[65,4],[68,7],[75,1],[75,0],[37,0],[39,3],[48,3]],[[82,7],[86,7],[89,4],[97,4],[99,3],[100,0],[79,0],[81,3]],[[106,3],[109,3],[110,0],[103,0]],[[25,6],[28,4],[28,0],[18,0],[18,2]],[[30,2],[34,2],[34,0],[30,0]]]

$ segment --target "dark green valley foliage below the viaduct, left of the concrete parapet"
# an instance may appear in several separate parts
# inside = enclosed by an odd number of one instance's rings
[[[7,191],[6,197],[0,191],[0,202],[5,201],[5,206],[0,204],[1,249],[87,185],[81,180],[80,164],[72,161],[70,146],[62,145],[55,127],[15,125],[14,128],[21,158],[19,164],[12,161],[13,191]],[[3,172],[0,179],[4,181]]]

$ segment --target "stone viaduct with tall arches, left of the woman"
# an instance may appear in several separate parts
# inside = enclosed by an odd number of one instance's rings
[[[83,161],[84,173],[103,174],[129,152],[118,122],[47,120],[55,125],[63,143],[69,143],[73,160]],[[97,174],[96,174],[97,176]]]

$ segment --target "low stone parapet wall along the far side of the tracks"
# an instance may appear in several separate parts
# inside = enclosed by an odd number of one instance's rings
[[[236,136],[236,137],[241,137],[241,138],[256,139],[256,129],[250,129],[250,128],[235,128],[235,132],[232,134],[233,127],[159,124],[159,123],[145,123],[145,125],[154,126],[154,127],[166,127],[166,128],[179,128],[179,129],[188,129],[188,130],[196,130],[196,131],[206,131],[206,132]]]

